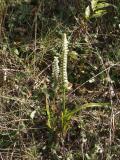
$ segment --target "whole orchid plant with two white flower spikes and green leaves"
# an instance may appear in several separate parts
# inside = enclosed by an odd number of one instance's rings
[[[63,52],[61,56],[61,68],[59,69],[59,57],[54,56],[53,60],[53,89],[54,89],[54,107],[55,110],[51,109],[49,92],[47,86],[44,87],[44,93],[46,97],[46,112],[47,112],[47,125],[53,131],[56,131],[57,134],[60,134],[62,137],[65,137],[68,130],[70,129],[70,122],[77,113],[87,108],[93,107],[103,107],[107,106],[105,103],[87,103],[82,106],[76,106],[75,109],[70,110],[69,106],[66,105],[67,96],[66,93],[69,90],[69,82],[67,75],[67,56],[68,56],[68,40],[66,34],[63,38]],[[61,103],[58,106],[56,105],[56,99],[61,99]],[[57,112],[57,114],[56,114]]]

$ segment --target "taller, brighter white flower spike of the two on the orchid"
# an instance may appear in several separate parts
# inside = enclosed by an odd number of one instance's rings
[[[61,62],[61,76],[62,76],[62,83],[66,89],[68,88],[67,57],[68,57],[68,40],[67,40],[66,34],[64,33],[63,53],[62,53],[62,62]]]

